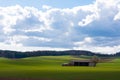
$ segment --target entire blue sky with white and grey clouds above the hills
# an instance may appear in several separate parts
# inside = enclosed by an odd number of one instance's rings
[[[120,51],[120,0],[0,0],[0,49]]]

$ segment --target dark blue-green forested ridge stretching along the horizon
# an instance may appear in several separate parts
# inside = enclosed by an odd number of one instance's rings
[[[31,52],[18,52],[9,50],[0,50],[0,57],[5,58],[25,58],[34,56],[62,56],[62,55],[86,55],[86,56],[99,56],[99,57],[119,57],[120,52],[116,54],[101,54],[93,53],[84,50],[68,50],[68,51],[31,51]]]

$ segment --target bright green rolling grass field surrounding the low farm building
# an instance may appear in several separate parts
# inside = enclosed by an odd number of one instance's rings
[[[0,58],[0,78],[40,80],[120,80],[120,58],[96,67],[61,66],[72,56],[42,56],[24,59]]]

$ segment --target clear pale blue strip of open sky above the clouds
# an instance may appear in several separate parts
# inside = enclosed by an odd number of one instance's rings
[[[33,6],[41,8],[42,5],[48,5],[57,8],[72,8],[74,6],[87,5],[94,0],[0,0],[1,6],[12,6],[19,4],[21,6]]]

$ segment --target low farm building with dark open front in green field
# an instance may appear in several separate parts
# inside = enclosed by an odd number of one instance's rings
[[[63,66],[96,66],[96,63],[91,60],[72,60],[69,63],[62,64]]]

